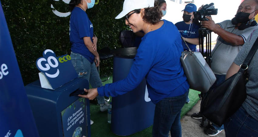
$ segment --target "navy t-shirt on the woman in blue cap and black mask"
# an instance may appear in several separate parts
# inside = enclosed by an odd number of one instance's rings
[[[182,37],[185,38],[199,38],[199,25],[196,25],[195,23],[191,24],[190,30],[189,26],[190,24],[186,24],[184,21],[180,21],[178,23],[175,23],[175,26],[178,28],[178,31],[182,35]],[[186,44],[190,47],[190,49],[194,49],[196,45],[186,42]],[[182,40],[182,45],[184,47],[184,50],[188,50],[188,48],[185,45],[184,40]]]

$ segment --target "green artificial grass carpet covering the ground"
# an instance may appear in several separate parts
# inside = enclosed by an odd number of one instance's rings
[[[110,79],[103,82],[103,85],[107,83],[112,83],[113,77],[110,76]],[[189,99],[190,103],[185,104],[182,108],[181,118],[188,111],[192,109],[192,107],[199,100],[199,91],[191,90],[189,91]],[[112,97],[110,97],[110,101],[112,101]],[[109,101],[109,102],[110,102]],[[91,137],[118,137],[113,132],[111,132],[111,124],[107,123],[107,111],[100,112],[99,105],[90,105],[90,119],[94,121],[93,125],[91,125]],[[112,121],[111,121],[112,122]],[[151,137],[152,134],[152,126],[144,129],[141,132],[137,132],[133,135],[128,135],[129,137]]]

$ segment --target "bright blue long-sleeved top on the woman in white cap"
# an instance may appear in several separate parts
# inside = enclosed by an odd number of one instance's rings
[[[189,89],[180,57],[183,51],[176,26],[163,20],[157,30],[144,35],[129,74],[123,80],[98,88],[100,96],[122,95],[135,89],[146,78],[154,104],[166,97],[183,95]]]

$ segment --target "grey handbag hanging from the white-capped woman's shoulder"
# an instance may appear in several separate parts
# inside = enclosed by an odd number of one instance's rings
[[[188,47],[186,42],[185,45]],[[207,92],[213,83],[215,83],[216,77],[202,54],[200,52],[191,51],[189,47],[188,49],[189,51],[182,52],[180,61],[190,89]]]

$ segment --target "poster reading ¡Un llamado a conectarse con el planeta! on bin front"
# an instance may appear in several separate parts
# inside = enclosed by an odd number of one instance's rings
[[[85,99],[79,98],[61,112],[64,137],[87,137]],[[85,130],[83,130],[85,129]]]

